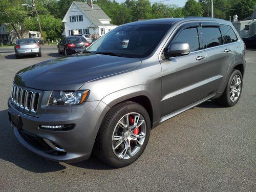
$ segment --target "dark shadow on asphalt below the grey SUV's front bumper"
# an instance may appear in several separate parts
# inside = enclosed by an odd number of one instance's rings
[[[7,110],[0,112],[0,119],[0,159],[34,173],[49,173],[66,169],[66,166],[38,156],[22,146],[12,133]],[[89,160],[70,165],[86,169],[112,169],[94,155]]]

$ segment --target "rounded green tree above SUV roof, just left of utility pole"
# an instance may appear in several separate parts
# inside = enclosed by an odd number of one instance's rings
[[[184,6],[184,15],[185,16],[202,16],[203,10],[200,3],[197,3],[195,0],[187,0]]]

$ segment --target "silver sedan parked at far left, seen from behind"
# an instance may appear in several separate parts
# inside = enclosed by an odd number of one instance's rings
[[[16,58],[20,58],[23,55],[37,55],[42,56],[41,47],[33,38],[18,39],[14,46]]]

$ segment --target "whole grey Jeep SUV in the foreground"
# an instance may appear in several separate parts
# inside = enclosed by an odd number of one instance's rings
[[[235,105],[245,65],[244,42],[226,20],[129,23],[82,54],[17,72],[9,119],[19,142],[40,156],[78,162],[93,151],[123,167],[141,156],[161,122],[208,99]]]

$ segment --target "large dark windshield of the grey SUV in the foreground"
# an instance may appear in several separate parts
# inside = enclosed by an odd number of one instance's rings
[[[153,52],[170,26],[166,24],[120,26],[100,37],[86,51],[143,58]]]

